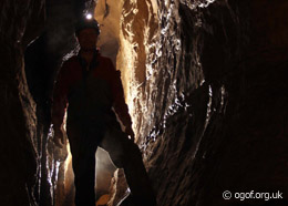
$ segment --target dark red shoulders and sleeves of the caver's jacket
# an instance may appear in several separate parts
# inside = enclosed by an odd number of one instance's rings
[[[116,71],[109,58],[101,56],[99,52],[94,56],[94,65],[90,66],[91,76],[101,80],[109,85],[111,93],[111,104],[114,107],[119,119],[124,126],[131,126],[131,117],[128,109],[124,100],[123,86],[120,78],[120,71]],[[52,123],[55,127],[60,127],[69,106],[69,93],[79,82],[83,80],[83,59],[80,55],[72,56],[63,63],[58,81],[54,87],[53,105],[52,105]],[[100,89],[101,90],[101,89]]]

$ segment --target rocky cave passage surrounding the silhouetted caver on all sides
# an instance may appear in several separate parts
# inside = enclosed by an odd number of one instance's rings
[[[286,1],[4,0],[0,9],[1,205],[74,205],[70,145],[52,141],[51,105],[88,13],[121,71],[158,206],[288,205]],[[117,205],[130,192],[124,172],[101,148],[96,162],[95,204]]]

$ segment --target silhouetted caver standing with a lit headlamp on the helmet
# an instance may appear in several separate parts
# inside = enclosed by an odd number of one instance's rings
[[[155,196],[134,144],[134,133],[124,101],[120,72],[96,50],[97,22],[82,20],[75,27],[80,52],[65,61],[53,94],[54,143],[64,144],[63,119],[68,109],[66,135],[72,154],[75,205],[95,206],[95,152],[109,152],[116,167],[123,167],[134,205],[154,206]],[[122,132],[120,121],[125,126]],[[130,136],[130,138],[128,138]]]

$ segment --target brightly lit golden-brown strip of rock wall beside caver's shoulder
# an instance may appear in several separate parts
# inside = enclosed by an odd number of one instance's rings
[[[147,99],[144,96],[143,89],[155,69],[154,60],[160,47],[157,11],[157,3],[154,0],[123,1],[122,3],[117,66],[122,72],[136,138],[140,130],[148,126],[145,120],[148,116],[143,115],[147,112],[148,105],[144,102]],[[154,116],[151,116],[151,120],[153,119]],[[145,123],[142,124],[142,121]]]

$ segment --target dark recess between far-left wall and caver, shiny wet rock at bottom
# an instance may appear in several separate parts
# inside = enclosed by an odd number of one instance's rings
[[[50,110],[55,74],[63,56],[75,48],[73,9],[73,2],[49,1],[44,30],[25,50],[25,75],[37,103],[35,147],[40,161],[35,198],[39,205],[59,205],[63,200],[66,147],[60,150],[52,142]]]

